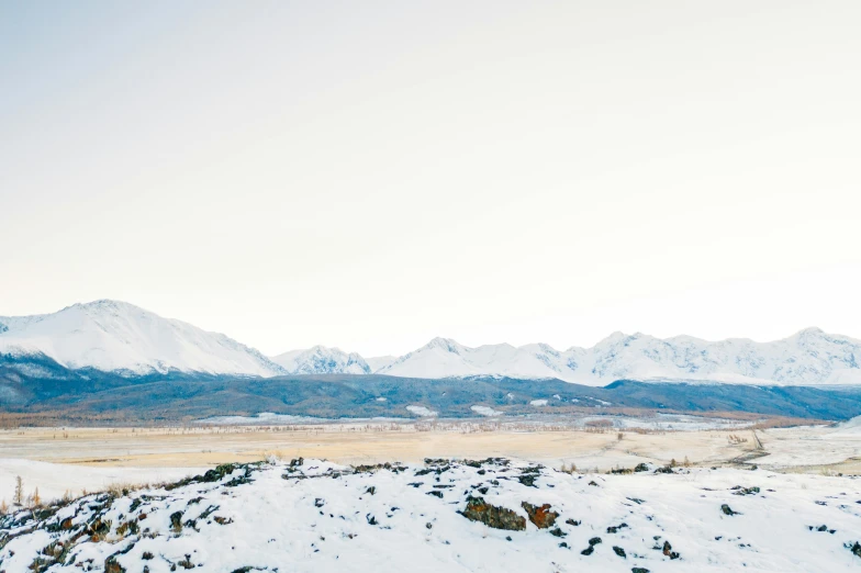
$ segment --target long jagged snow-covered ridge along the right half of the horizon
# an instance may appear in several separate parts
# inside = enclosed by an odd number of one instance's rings
[[[558,378],[582,384],[606,384],[620,379],[861,384],[861,341],[818,328],[773,342],[712,342],[690,336],[660,339],[639,333],[615,333],[592,348],[572,347],[564,351],[548,345],[469,348],[435,338],[377,373],[414,378]]]

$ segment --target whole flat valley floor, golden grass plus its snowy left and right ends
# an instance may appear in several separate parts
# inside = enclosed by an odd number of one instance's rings
[[[759,448],[761,442],[762,448]],[[764,430],[499,429],[492,423],[434,425],[339,424],[288,427],[20,428],[0,430],[0,501],[11,501],[15,476],[43,498],[78,495],[111,483],[158,482],[226,462],[267,456],[326,459],[344,464],[424,458],[505,457],[550,468],[574,464],[606,472],[685,459],[698,467],[751,467],[784,473],[861,474],[861,427]]]

